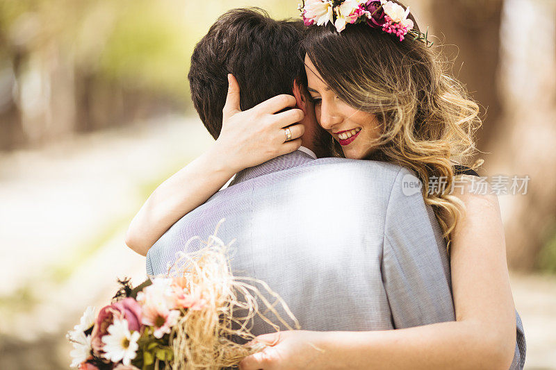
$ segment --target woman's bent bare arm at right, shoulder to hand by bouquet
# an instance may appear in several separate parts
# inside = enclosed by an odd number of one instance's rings
[[[251,369],[509,369],[516,316],[496,195],[457,195],[466,205],[452,239],[457,321],[361,332],[280,333],[242,362]],[[257,339],[271,343],[275,335]],[[311,345],[313,344],[313,345]]]

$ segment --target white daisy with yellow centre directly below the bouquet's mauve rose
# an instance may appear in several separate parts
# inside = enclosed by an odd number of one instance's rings
[[[129,331],[126,320],[114,320],[113,324],[108,326],[108,335],[102,337],[104,357],[111,362],[122,361],[124,365],[129,366],[137,355],[139,337],[139,332]]]

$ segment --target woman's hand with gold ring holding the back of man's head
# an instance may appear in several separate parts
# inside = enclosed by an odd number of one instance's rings
[[[213,146],[215,159],[224,161],[227,169],[238,172],[299,149],[300,137],[305,129],[302,124],[296,123],[304,118],[303,111],[293,108],[279,112],[295,106],[294,96],[274,96],[242,112],[238,82],[231,74],[228,75],[228,82],[226,105],[222,110],[222,131]],[[292,137],[288,142],[284,131],[287,126]]]

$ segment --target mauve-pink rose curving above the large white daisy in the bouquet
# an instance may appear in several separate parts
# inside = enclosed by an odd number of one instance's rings
[[[125,298],[120,302],[107,305],[102,308],[95,321],[95,327],[91,333],[91,347],[95,353],[102,351],[104,343],[102,337],[108,334],[108,326],[111,326],[114,319],[125,319],[128,323],[129,330],[142,330],[141,323],[141,306],[133,298]]]

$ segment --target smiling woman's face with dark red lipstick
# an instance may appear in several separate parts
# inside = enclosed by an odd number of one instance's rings
[[[357,110],[339,99],[318,74],[307,55],[305,70],[318,124],[341,144],[345,158],[367,158],[375,150],[371,142],[379,136],[377,117]]]

